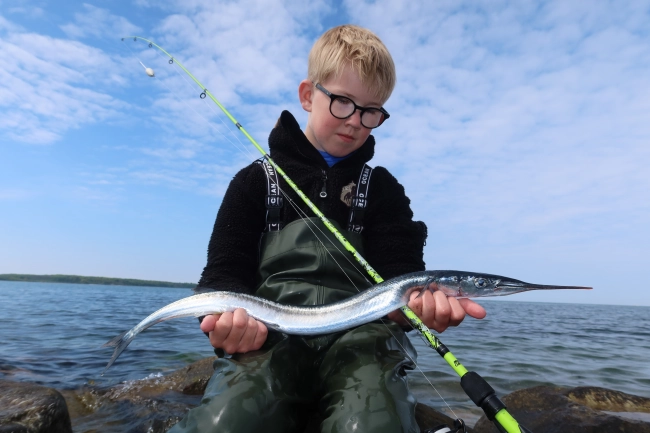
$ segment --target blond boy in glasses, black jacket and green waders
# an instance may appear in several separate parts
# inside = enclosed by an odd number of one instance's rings
[[[308,79],[298,87],[310,113],[304,131],[285,111],[269,137],[273,160],[385,279],[424,270],[426,239],[403,187],[386,169],[370,173],[365,166],[374,153],[371,129],[389,117],[383,105],[394,84],[392,58],[372,32],[333,28],[312,48]],[[364,271],[317,218],[308,217],[282,180],[279,206],[274,182],[272,169],[259,163],[235,176],[199,287],[293,305],[332,303],[370,287]],[[366,206],[351,209],[361,183]],[[415,296],[409,306],[438,332],[465,314],[485,315],[469,300]],[[298,337],[269,332],[244,310],[205,317],[201,329],[215,352],[233,356],[215,361],[201,405],[171,432],[299,432],[314,410],[323,418],[322,432],[419,432],[405,373],[414,366],[415,350],[401,313],[388,319]]]

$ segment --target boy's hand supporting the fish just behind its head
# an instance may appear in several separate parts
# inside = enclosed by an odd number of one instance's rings
[[[450,326],[458,326],[466,315],[482,319],[487,314],[485,308],[469,299],[448,298],[442,292],[425,290],[411,293],[408,306],[431,329],[443,332]],[[388,318],[399,325],[408,326],[409,322],[400,310],[388,314]]]

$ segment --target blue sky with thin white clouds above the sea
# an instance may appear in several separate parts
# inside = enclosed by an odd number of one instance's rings
[[[650,306],[650,2],[0,0],[0,273],[196,282],[230,179],[328,28],[374,31],[397,85],[373,166],[429,228],[427,269]],[[145,74],[143,65],[156,77]]]

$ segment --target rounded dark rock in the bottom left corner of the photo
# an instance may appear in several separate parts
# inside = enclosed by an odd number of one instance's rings
[[[63,396],[52,388],[0,380],[0,433],[72,433]]]

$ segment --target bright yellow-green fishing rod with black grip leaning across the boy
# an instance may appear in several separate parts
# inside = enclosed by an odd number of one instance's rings
[[[194,76],[190,71],[188,71],[185,66],[169,54],[164,48],[157,45],[149,39],[143,38],[141,36],[127,36],[122,38],[122,41],[125,39],[133,38],[134,41],[138,39],[147,42],[149,48],[156,47],[158,50],[163,52],[169,57],[169,64],[173,65],[174,63],[178,65],[179,68],[183,70],[198,86],[202,89],[202,92],[199,94],[201,99],[209,97],[220,109],[221,111],[230,119],[230,121],[241,131],[242,134],[255,146],[255,148],[262,154],[262,157],[277,171],[280,176],[287,182],[287,184],[294,190],[294,192],[303,200],[303,202],[311,209],[314,214],[323,222],[323,224],[328,228],[328,230],[336,237],[336,239],[343,245],[343,247],[350,252],[357,262],[364,268],[368,275],[379,284],[384,281],[384,279],[375,271],[372,266],[359,254],[359,252],[348,242],[348,240],[341,234],[341,232],[330,222],[330,220],[316,207],[314,203],[303,193],[300,188],[289,178],[289,176],[282,170],[282,168],[271,159],[271,155],[262,148],[257,141],[246,131],[246,129],[233,117],[232,114],[224,107],[221,102],[214,97],[212,93]],[[140,62],[142,64],[142,62]],[[144,64],[142,64],[143,67]],[[151,68],[146,68],[145,71],[150,77],[154,76],[153,70]],[[480,407],[487,418],[494,422],[499,431],[505,433],[531,433],[530,430],[526,429],[520,425],[514,417],[508,412],[505,404],[497,397],[494,389],[483,379],[478,373],[469,371],[463,366],[463,364],[458,361],[453,353],[445,346],[438,337],[433,335],[429,328],[422,322],[422,320],[411,310],[407,305],[401,307],[401,311],[404,316],[408,319],[414,329],[416,329],[422,337],[424,337],[425,342],[434,349],[446,362],[449,366],[458,374],[460,377],[460,384],[465,393],[470,397],[470,399]],[[462,431],[464,429],[464,423],[461,421],[458,426],[458,430]]]

